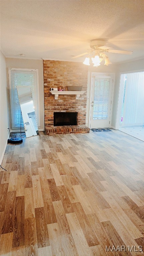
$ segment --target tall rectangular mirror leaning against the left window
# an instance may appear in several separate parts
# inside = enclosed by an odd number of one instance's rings
[[[38,135],[38,126],[30,86],[17,86],[26,137]]]

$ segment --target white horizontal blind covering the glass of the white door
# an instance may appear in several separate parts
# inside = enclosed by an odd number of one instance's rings
[[[108,118],[110,81],[110,77],[93,76],[93,120]]]

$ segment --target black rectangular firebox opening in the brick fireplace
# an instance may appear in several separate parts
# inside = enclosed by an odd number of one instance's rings
[[[54,112],[54,126],[77,125],[78,112]]]

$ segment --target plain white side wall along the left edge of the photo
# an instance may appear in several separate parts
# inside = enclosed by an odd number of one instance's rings
[[[7,99],[7,78],[6,78],[6,59],[0,52],[0,164],[7,146],[9,137],[9,114]]]

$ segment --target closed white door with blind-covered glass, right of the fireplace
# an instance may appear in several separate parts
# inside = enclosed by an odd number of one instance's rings
[[[92,77],[90,128],[109,128],[113,76]]]

